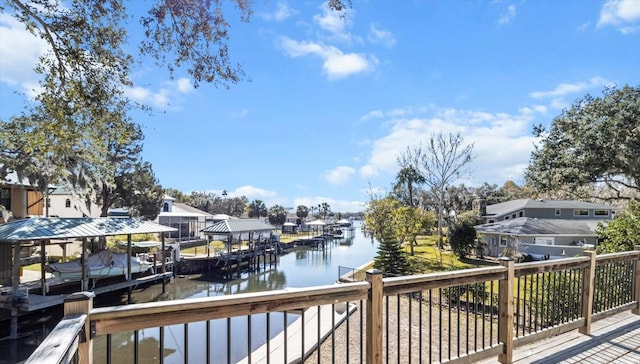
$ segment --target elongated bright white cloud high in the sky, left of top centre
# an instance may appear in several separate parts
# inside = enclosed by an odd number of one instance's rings
[[[315,42],[296,41],[280,38],[280,45],[291,57],[315,55],[323,59],[323,73],[329,79],[341,79],[358,73],[366,73],[375,68],[377,59],[372,55],[343,53],[340,49]]]

